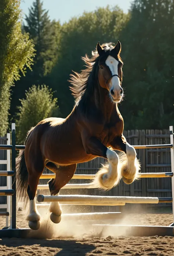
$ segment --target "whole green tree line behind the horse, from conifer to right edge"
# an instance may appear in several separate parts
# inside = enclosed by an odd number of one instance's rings
[[[56,91],[62,115],[72,110],[69,74],[79,72],[81,56],[91,55],[97,42],[122,43],[125,99],[119,109],[125,129],[160,129],[174,120],[174,4],[173,0],[134,0],[128,14],[117,6],[98,8],[62,26],[50,21],[35,0],[25,31],[35,42],[33,71],[15,83],[11,113],[32,84],[49,84]],[[4,95],[9,91],[4,87]]]

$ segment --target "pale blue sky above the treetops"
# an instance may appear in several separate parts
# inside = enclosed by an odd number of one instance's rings
[[[110,7],[118,5],[127,12],[131,0],[41,0],[43,8],[49,10],[50,19],[60,20],[61,24],[70,20],[74,16],[80,16],[84,11],[94,11],[97,7]],[[28,8],[33,0],[21,0],[21,9],[24,14],[28,14]]]

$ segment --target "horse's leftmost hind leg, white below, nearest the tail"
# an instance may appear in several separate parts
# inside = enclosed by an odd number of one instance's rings
[[[36,207],[36,192],[37,192],[37,185],[39,183],[39,178],[44,170],[44,164],[42,158],[36,158],[36,161],[30,162],[27,165],[28,169],[28,196],[30,199],[30,208],[29,208],[29,215],[27,216],[26,220],[29,221],[29,227],[31,229],[39,229],[40,227],[40,214],[37,211]]]

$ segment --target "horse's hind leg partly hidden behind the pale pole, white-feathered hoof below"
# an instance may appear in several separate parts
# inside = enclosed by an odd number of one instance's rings
[[[68,166],[59,166],[59,168],[56,168],[54,165],[54,167],[51,168],[51,166],[46,165],[48,169],[55,172],[55,179],[51,179],[48,182],[51,196],[56,196],[59,194],[60,189],[64,187],[74,175],[76,166],[76,164],[73,164]],[[49,210],[51,213],[51,221],[54,223],[59,223],[61,221],[62,214],[59,202],[51,202]]]

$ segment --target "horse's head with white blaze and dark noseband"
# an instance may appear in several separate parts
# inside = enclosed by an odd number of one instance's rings
[[[113,102],[119,103],[123,97],[122,84],[122,66],[120,58],[121,43],[118,41],[115,48],[110,44],[103,47],[97,44],[99,54],[98,81],[102,88],[109,91]]]

